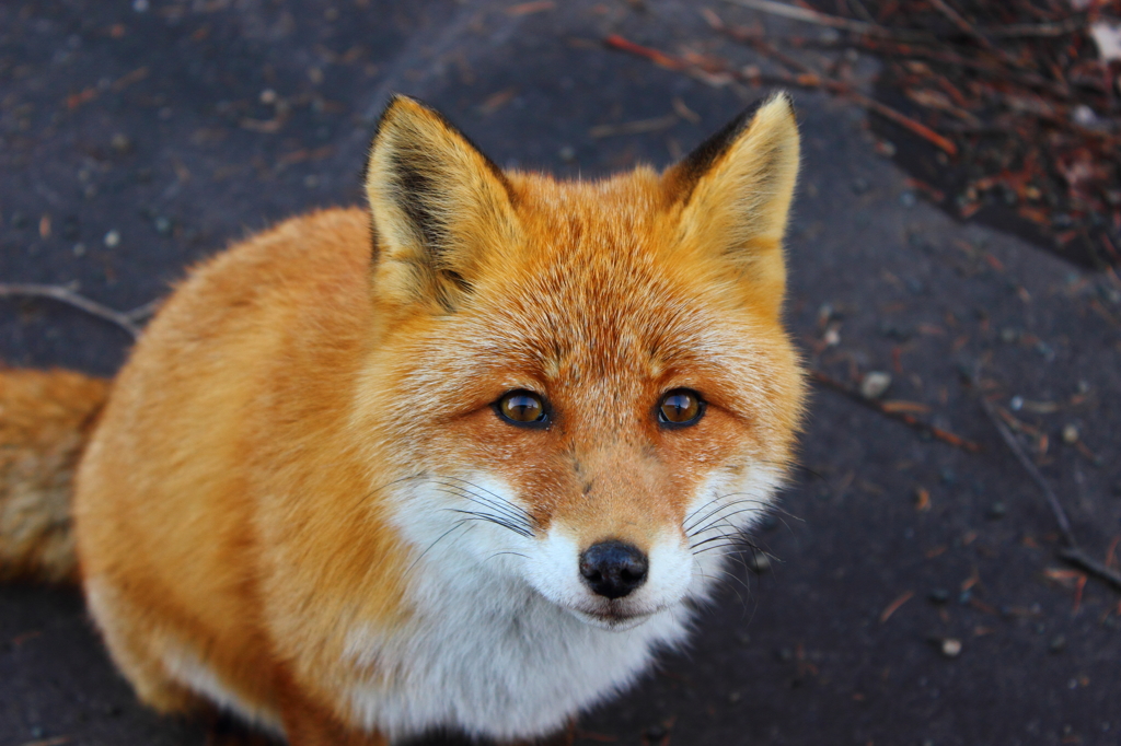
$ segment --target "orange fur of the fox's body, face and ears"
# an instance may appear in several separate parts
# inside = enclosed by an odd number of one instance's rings
[[[195,268],[77,481],[91,610],[140,697],[221,692],[293,744],[387,743],[343,692],[398,672],[341,662],[348,631],[421,613],[425,548],[391,485],[485,466],[538,530],[646,551],[713,468],[781,472],[803,401],[779,320],[797,132],[781,99],[739,127],[665,175],[563,183],[500,171],[398,99],[371,213],[298,217]],[[667,430],[652,408],[677,386],[708,409]],[[512,389],[548,392],[555,425],[501,421]]]

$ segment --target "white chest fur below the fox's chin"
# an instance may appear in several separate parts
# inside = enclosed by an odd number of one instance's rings
[[[424,579],[414,585],[419,613],[413,625],[392,635],[351,633],[350,663],[379,672],[351,691],[367,727],[391,737],[439,727],[499,739],[548,734],[631,683],[655,649],[686,634],[684,605],[611,632],[584,624],[524,582],[480,567],[450,568],[454,554],[414,568]]]

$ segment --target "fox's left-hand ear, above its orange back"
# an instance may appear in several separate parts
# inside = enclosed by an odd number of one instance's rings
[[[487,253],[517,232],[502,171],[447,120],[395,96],[374,134],[365,194],[377,235],[378,297],[453,313]]]

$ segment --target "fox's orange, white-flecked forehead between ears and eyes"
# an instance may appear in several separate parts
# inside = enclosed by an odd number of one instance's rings
[[[619,394],[639,382],[752,377],[765,357],[753,339],[773,335],[750,309],[728,313],[710,268],[678,245],[652,171],[511,181],[519,245],[491,252],[467,302],[430,317],[424,335],[457,373],[504,372],[510,385],[612,381]]]

